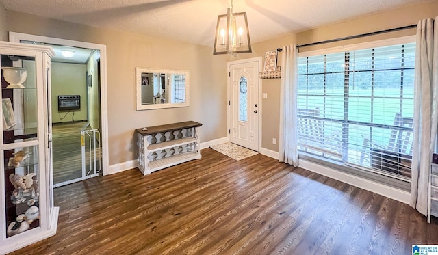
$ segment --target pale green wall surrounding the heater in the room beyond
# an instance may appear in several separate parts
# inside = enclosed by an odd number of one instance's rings
[[[86,70],[85,64],[52,63],[52,123],[87,120]],[[63,95],[81,96],[81,109],[58,111],[57,96]]]

